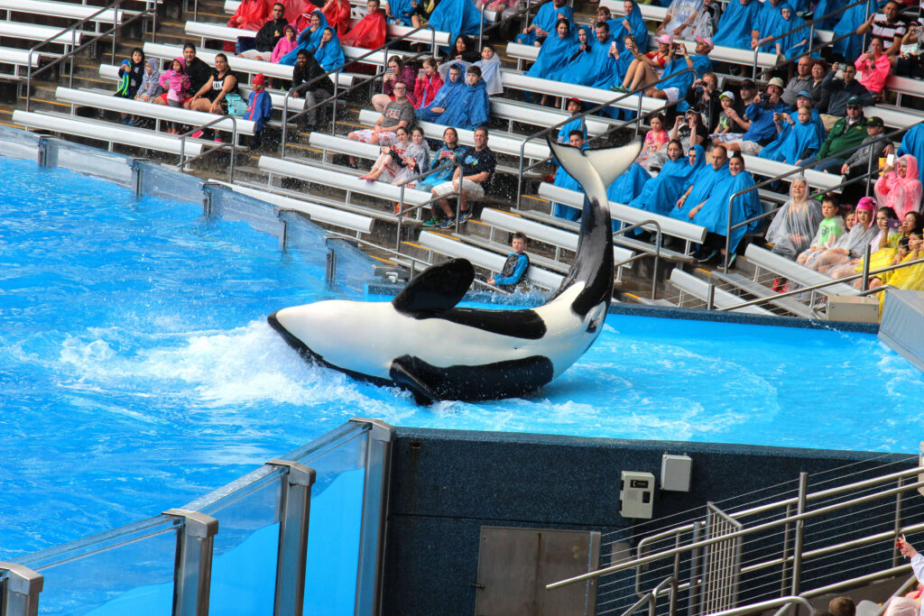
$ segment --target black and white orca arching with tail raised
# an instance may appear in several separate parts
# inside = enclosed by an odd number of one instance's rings
[[[433,265],[390,302],[326,300],[267,320],[306,358],[359,380],[397,386],[418,404],[520,396],[560,375],[602,332],[613,296],[608,187],[640,144],[580,151],[546,138],[585,191],[577,252],[538,308],[458,308],[475,271],[464,259]]]

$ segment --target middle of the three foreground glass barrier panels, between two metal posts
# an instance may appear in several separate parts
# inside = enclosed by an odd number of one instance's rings
[[[213,614],[272,616],[285,470],[263,466],[258,478],[201,513],[218,520],[212,560]]]

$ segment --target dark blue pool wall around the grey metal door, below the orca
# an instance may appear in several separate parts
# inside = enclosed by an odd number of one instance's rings
[[[663,523],[679,525],[701,517],[707,501],[786,482],[794,489],[802,471],[853,465],[849,472],[859,480],[891,461],[915,460],[901,454],[505,432],[397,428],[395,436],[386,614],[474,613],[476,590],[469,585],[478,576],[482,525],[598,530],[604,533],[602,560],[608,559],[605,533],[642,522],[619,514],[623,470],[653,474],[659,488],[655,518],[682,513]],[[660,490],[663,453],[692,458],[690,492]],[[831,572],[835,579],[838,573]]]

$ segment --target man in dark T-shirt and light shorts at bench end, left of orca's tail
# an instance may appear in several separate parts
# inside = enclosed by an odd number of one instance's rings
[[[440,228],[446,229],[456,225],[455,212],[449,206],[448,197],[453,193],[458,193],[458,212],[459,223],[468,223],[468,199],[480,199],[484,197],[484,189],[487,187],[497,161],[494,159],[494,152],[488,148],[488,129],[478,127],[475,129],[475,147],[469,148],[462,158],[460,167],[456,167],[456,173],[453,175],[452,182],[440,184],[432,189],[433,197],[438,200],[433,204],[432,218],[423,223],[424,226],[440,225]],[[442,210],[446,219],[441,223],[437,216]]]

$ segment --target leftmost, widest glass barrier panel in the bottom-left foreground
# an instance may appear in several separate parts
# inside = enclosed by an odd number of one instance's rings
[[[173,609],[176,521],[164,516],[35,552],[42,614],[167,616]]]

